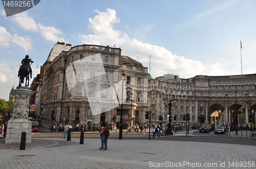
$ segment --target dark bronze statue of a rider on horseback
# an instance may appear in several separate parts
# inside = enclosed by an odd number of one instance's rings
[[[19,67],[18,70],[18,77],[19,77],[19,83],[18,86],[21,87],[22,83],[24,83],[24,78],[26,77],[26,83],[25,87],[29,86],[29,74],[30,78],[32,78],[32,69],[30,65],[34,63],[29,59],[29,55],[26,55],[26,57],[22,60],[22,65]]]

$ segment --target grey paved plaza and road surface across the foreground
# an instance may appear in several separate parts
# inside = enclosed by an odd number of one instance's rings
[[[80,138],[33,137],[19,150],[1,140],[0,168],[256,168],[248,167],[255,164],[255,146],[110,137],[108,150],[99,151],[100,138],[79,143]]]

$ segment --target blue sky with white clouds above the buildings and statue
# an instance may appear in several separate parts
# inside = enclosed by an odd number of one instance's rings
[[[144,67],[151,58],[153,78],[253,74],[255,9],[253,0],[45,0],[6,17],[0,4],[0,97],[18,86],[25,55],[35,77],[58,41],[120,47]]]

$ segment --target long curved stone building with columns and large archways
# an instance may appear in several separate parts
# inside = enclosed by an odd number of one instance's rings
[[[153,112],[153,121],[158,123],[161,115],[167,121],[168,110],[163,98],[176,97],[171,112],[172,116],[177,116],[178,122],[185,122],[183,115],[189,113],[193,123],[227,124],[234,122],[238,112],[239,124],[248,124],[249,117],[255,124],[256,92],[253,83],[256,83],[256,74],[197,75],[188,79],[166,74],[148,79],[147,105]],[[245,109],[241,111],[241,107]]]

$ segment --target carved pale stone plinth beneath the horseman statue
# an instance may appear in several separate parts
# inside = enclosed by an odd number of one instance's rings
[[[26,132],[26,143],[31,144],[32,122],[28,120],[29,100],[34,91],[28,87],[17,87],[13,90],[15,95],[12,119],[8,121],[6,131],[6,144],[20,143],[22,132]]]

